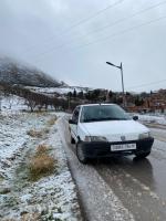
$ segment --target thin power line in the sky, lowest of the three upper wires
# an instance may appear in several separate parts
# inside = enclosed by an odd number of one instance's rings
[[[81,44],[81,45],[75,46],[75,48],[69,48],[69,50],[77,50],[77,49],[86,48],[86,46],[90,46],[90,45],[93,45],[93,44],[97,44],[98,42],[102,42],[102,41],[108,41],[108,40],[111,40],[111,39],[113,39],[113,38],[120,36],[120,35],[125,34],[125,33],[127,33],[127,32],[132,32],[132,31],[135,30],[135,29],[139,29],[139,28],[142,28],[142,27],[149,25],[149,24],[152,24],[152,23],[158,22],[158,21],[164,20],[164,19],[166,19],[166,15],[159,17],[159,18],[157,18],[157,19],[153,19],[153,20],[151,20],[151,21],[148,21],[148,22],[144,22],[144,23],[142,23],[142,24],[132,27],[132,28],[129,28],[129,29],[122,30],[122,31],[120,31],[120,32],[116,32],[116,33],[114,33],[114,34],[107,35],[107,36],[105,36],[105,38],[98,39],[98,40],[93,41],[93,42],[89,42],[89,43],[86,43],[86,44]],[[50,52],[53,52],[53,51],[55,51],[55,50],[52,49],[52,50],[50,50],[49,52],[41,53],[40,56],[44,56],[46,53],[50,53]],[[39,60],[39,61],[40,61],[40,60]]]

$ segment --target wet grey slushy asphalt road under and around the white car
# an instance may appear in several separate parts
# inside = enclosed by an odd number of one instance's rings
[[[152,128],[155,143],[144,160],[129,156],[83,166],[65,119],[60,127],[85,220],[166,220],[166,130]]]

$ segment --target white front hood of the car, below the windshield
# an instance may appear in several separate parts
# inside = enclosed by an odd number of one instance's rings
[[[139,134],[149,131],[147,127],[133,119],[83,123],[82,126],[90,136],[104,136],[108,141],[121,141],[122,136],[125,136],[126,140],[135,140]]]

